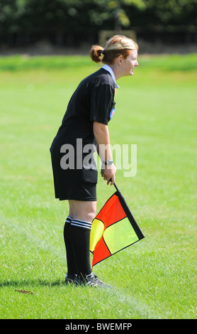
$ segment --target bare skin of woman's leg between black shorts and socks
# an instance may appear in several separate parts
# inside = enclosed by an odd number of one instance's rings
[[[69,216],[91,222],[96,215],[96,200],[69,200]]]

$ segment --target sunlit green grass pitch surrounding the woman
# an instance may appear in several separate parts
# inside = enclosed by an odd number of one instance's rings
[[[145,239],[94,267],[112,289],[64,285],[67,201],[54,198],[50,144],[89,57],[0,58],[0,318],[194,319],[197,55],[140,56],[118,80],[111,144],[137,144],[116,183]],[[115,191],[102,178],[98,210]],[[19,293],[26,290],[33,294]]]

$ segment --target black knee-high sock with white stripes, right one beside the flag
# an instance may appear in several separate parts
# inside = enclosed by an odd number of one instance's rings
[[[89,239],[91,222],[73,219],[70,225],[70,237],[74,250],[74,259],[77,265],[77,276],[84,278],[91,274],[89,257]]]

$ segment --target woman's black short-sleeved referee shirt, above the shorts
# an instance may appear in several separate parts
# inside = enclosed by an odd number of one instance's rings
[[[63,143],[94,142],[93,122],[108,124],[114,108],[115,82],[111,74],[101,68],[82,80],[69,100],[67,111],[56,139]]]

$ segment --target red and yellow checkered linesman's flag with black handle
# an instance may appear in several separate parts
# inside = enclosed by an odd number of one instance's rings
[[[145,236],[118,190],[109,198],[91,225],[92,266],[129,247]]]

